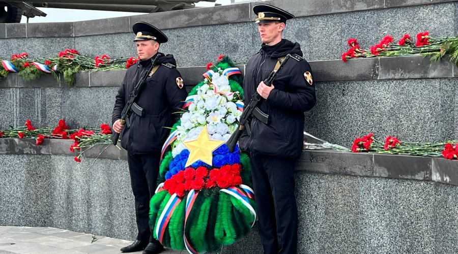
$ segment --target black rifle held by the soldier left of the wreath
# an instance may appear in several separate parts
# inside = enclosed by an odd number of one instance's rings
[[[140,78],[140,80],[138,80],[137,84],[134,86],[133,90],[130,92],[129,100],[127,101],[126,105],[123,108],[123,111],[121,112],[121,124],[127,123],[127,126],[130,127],[129,118],[132,112],[134,112],[135,114],[139,116],[143,115],[144,113],[143,108],[141,108],[140,106],[138,106],[135,103],[135,99],[137,99],[138,96],[140,95],[141,89],[145,86],[147,79],[153,76],[154,74],[153,68],[156,65],[159,55],[160,53],[157,53],[156,57],[154,57],[154,59],[152,60],[153,63],[150,69],[148,69],[148,71],[145,72],[145,74]],[[111,134],[111,142],[113,143],[113,145],[118,144],[119,135],[120,133],[116,133],[116,132],[113,132]]]

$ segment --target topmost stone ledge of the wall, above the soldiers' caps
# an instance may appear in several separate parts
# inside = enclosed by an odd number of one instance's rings
[[[316,0],[273,0],[267,3],[288,10],[296,15],[296,17],[307,17],[354,11],[441,4],[448,2],[456,2],[456,0],[435,0],[434,2],[433,0],[386,0],[383,2],[369,0],[359,0],[354,2],[336,2],[333,0],[325,0],[323,2],[317,2]],[[30,23],[31,27],[33,26],[36,28],[32,30],[29,30],[26,24],[7,24],[5,37],[81,37],[129,33],[131,30],[131,25],[137,21],[150,22],[160,29],[250,22],[255,18],[254,13],[251,10],[254,4],[256,3],[242,3],[228,6],[195,8],[121,18],[78,21],[72,23],[67,22],[64,25],[59,25],[59,23]],[[55,26],[55,24],[58,26],[71,27],[72,29],[58,30],[57,28],[51,27],[51,30],[47,30],[47,28],[50,26]],[[2,26],[0,26],[0,30],[2,30]],[[25,33],[26,30],[30,33]],[[59,33],[54,33],[54,30],[57,30]],[[0,38],[3,38],[2,32],[0,32]]]

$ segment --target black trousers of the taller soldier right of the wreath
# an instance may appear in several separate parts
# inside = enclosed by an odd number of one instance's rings
[[[251,154],[250,161],[264,253],[297,253],[295,160]]]

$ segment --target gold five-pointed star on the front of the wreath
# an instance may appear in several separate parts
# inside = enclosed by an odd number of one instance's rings
[[[210,139],[206,125],[197,139],[183,142],[183,145],[185,145],[189,150],[189,157],[186,161],[185,167],[188,167],[197,161],[202,161],[212,166],[213,151],[222,144],[224,144],[224,141]]]

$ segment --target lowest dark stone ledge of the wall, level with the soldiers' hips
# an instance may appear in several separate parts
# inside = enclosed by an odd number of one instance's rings
[[[71,152],[72,140],[45,139],[40,146],[35,139],[0,139],[0,154],[51,154],[77,156]],[[116,146],[100,145],[82,157],[127,160],[127,151]],[[102,152],[103,151],[103,152]],[[296,171],[351,176],[422,180],[458,186],[458,162],[439,157],[352,153],[332,150],[304,150]]]

